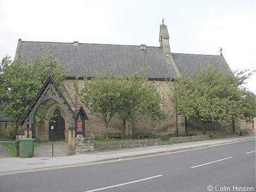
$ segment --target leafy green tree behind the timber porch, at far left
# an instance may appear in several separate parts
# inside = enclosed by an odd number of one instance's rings
[[[21,57],[13,62],[10,57],[3,58],[0,68],[0,111],[12,119],[14,133],[17,133],[19,119],[49,76],[51,62],[51,74],[60,85],[66,78],[67,70],[65,66],[60,66],[57,59],[53,59],[53,49],[46,57],[38,54],[33,63],[25,62]]]

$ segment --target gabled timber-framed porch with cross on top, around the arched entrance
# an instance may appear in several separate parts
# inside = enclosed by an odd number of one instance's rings
[[[48,102],[50,101],[50,102]],[[65,140],[68,139],[68,155],[74,155],[75,154],[75,134],[78,129],[75,126],[77,115],[79,113],[84,114],[84,119],[88,119],[85,111],[83,110],[82,106],[77,107],[76,113],[73,111],[73,109],[69,106],[67,100],[60,92],[57,84],[54,82],[52,76],[50,75],[47,79],[44,85],[41,87],[39,92],[37,93],[36,97],[33,99],[33,101],[30,103],[27,111],[23,114],[22,118],[20,119],[18,125],[23,125],[25,130],[25,137],[33,137],[33,130],[34,130],[34,124],[35,124],[35,113],[37,109],[41,106],[46,104],[44,107],[47,107],[46,109],[49,111],[49,116],[51,114],[56,115],[53,116],[54,122],[57,122],[57,124],[51,124],[46,125],[47,121],[44,122],[44,131],[47,130],[54,130],[54,126],[57,128],[57,133],[42,133],[42,138],[45,140],[49,140],[48,135],[51,135],[50,140]],[[55,104],[55,105],[54,105]],[[52,109],[52,110],[51,110]],[[55,114],[54,114],[55,113]],[[49,117],[48,116],[48,117]],[[74,127],[75,126],[75,127]],[[83,126],[84,127],[84,126]],[[42,130],[42,129],[41,129]],[[60,137],[56,136],[60,132],[68,132],[68,137],[63,137],[63,134],[60,134]],[[81,130],[80,130],[81,131]],[[84,133],[84,129],[82,131]],[[40,133],[41,134],[41,133]],[[36,133],[38,135],[38,132]],[[55,135],[55,136],[54,136]],[[65,135],[65,134],[64,134]]]

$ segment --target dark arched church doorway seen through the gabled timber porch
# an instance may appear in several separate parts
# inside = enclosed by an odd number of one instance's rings
[[[53,117],[49,122],[49,141],[65,140],[65,120],[60,114],[59,109],[55,109]]]

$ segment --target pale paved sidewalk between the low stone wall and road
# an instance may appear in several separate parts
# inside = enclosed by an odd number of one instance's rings
[[[66,165],[76,165],[84,163],[92,163],[98,161],[107,161],[111,159],[123,159],[129,157],[145,156],[149,154],[172,153],[174,151],[182,151],[203,147],[213,147],[223,145],[225,143],[239,142],[246,140],[255,140],[255,132],[252,135],[226,138],[218,140],[196,141],[188,143],[179,143],[174,145],[142,147],[134,149],[123,149],[115,151],[104,151],[97,153],[79,154],[73,156],[35,156],[33,158],[0,158],[0,175],[4,172],[49,169],[49,167],[58,167]]]

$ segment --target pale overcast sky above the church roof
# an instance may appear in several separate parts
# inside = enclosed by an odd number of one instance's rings
[[[0,1],[0,57],[22,41],[159,46],[172,53],[222,54],[231,70],[255,69],[255,0]],[[256,93],[256,75],[246,87]]]

